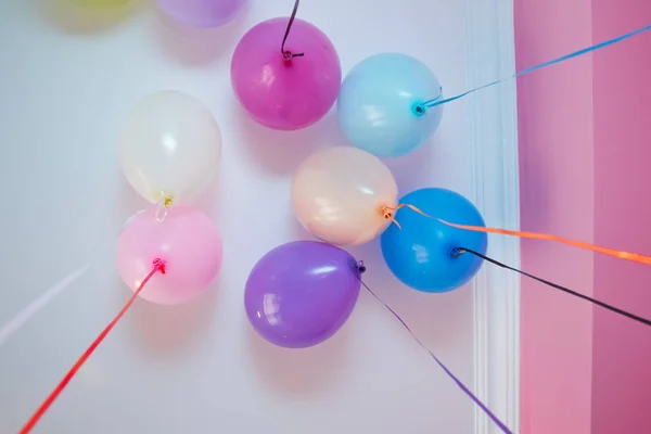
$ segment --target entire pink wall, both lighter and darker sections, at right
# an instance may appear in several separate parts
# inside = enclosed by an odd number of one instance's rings
[[[649,23],[649,0],[515,0],[516,67]],[[524,230],[651,251],[650,37],[519,79]],[[523,241],[522,268],[651,317],[642,266]],[[651,432],[649,330],[525,279],[521,333],[522,433]]]

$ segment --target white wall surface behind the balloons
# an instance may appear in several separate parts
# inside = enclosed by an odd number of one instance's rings
[[[431,66],[452,94],[475,84],[468,72],[480,65],[502,72],[495,68],[503,53],[494,17],[485,18],[484,29],[495,43],[468,51],[467,34],[475,42],[486,36],[469,30],[473,20],[484,20],[469,18],[467,11],[478,10],[473,3],[304,1],[299,16],[331,37],[344,73],[372,53],[401,51]],[[475,432],[472,403],[366,293],[344,329],[311,349],[272,347],[247,323],[243,286],[251,267],[276,245],[307,238],[291,215],[293,169],[316,149],[343,143],[334,116],[304,131],[276,132],[253,124],[234,100],[229,63],[237,41],[253,24],[288,15],[291,7],[252,0],[227,27],[191,31],[149,2],[120,20],[102,18],[101,28],[97,16],[53,12],[37,0],[0,4],[0,324],[98,255],[89,272],[0,348],[0,432],[20,427],[130,295],[116,272],[115,239],[127,216],[145,204],[119,173],[116,130],[140,97],[166,88],[199,97],[222,127],[222,182],[200,204],[225,238],[220,279],[190,305],[139,301],[37,432]],[[502,110],[494,99],[482,104]],[[499,113],[493,115],[500,122]],[[401,193],[446,187],[481,196],[482,209],[492,204],[503,210],[502,175],[494,174],[502,151],[492,149],[500,149],[505,132],[476,120],[464,101],[446,106],[433,143],[391,162]],[[486,173],[477,171],[484,156],[471,164],[484,133],[486,158],[497,161]],[[499,192],[480,194],[480,184]],[[500,213],[488,222],[503,226],[510,217]],[[501,394],[489,398],[487,390],[516,379],[516,371],[501,369],[509,352],[488,352],[487,368],[489,329],[480,328],[478,343],[475,335],[473,311],[492,306],[488,301],[477,301],[471,286],[441,295],[401,286],[375,242],[352,253],[366,260],[368,284],[463,382],[473,386],[480,375],[484,398],[500,413],[511,411]],[[484,297],[486,282],[503,286],[501,275],[490,272],[492,279],[483,278]],[[490,321],[507,327],[501,316]]]

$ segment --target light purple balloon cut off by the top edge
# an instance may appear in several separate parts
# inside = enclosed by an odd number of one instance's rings
[[[218,27],[231,21],[246,0],[156,0],[174,20],[191,27]]]

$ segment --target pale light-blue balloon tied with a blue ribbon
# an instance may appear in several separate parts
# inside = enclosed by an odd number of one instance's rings
[[[382,53],[348,73],[336,110],[353,144],[381,157],[400,156],[438,128],[443,105],[423,105],[436,98],[442,98],[441,84],[427,66],[407,54]]]

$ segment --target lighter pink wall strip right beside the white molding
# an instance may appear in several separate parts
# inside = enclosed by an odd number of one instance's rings
[[[518,69],[591,43],[590,0],[515,0]],[[592,242],[592,64],[583,56],[519,79],[523,230]],[[522,268],[591,295],[592,254],[522,242]],[[590,432],[592,307],[522,281],[522,433]]]

